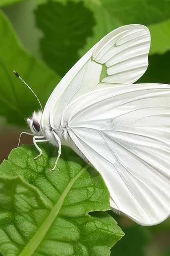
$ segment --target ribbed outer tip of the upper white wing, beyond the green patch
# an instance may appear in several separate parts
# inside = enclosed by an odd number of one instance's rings
[[[119,33],[117,33],[119,31]],[[121,27],[103,38],[95,47],[92,58],[105,64],[104,83],[134,83],[148,67],[150,32],[144,26]]]

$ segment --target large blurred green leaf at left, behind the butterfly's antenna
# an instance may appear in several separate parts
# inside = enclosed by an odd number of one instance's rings
[[[36,85],[35,93],[43,106],[60,80],[49,67],[23,49],[9,20],[0,11],[0,115],[5,116],[9,123],[23,125],[23,117],[40,106],[28,88],[14,76],[13,70],[33,90]]]

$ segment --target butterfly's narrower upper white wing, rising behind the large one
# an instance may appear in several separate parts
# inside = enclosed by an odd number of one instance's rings
[[[148,67],[149,48],[150,32],[143,25],[127,25],[110,32],[57,85],[44,108],[42,125],[50,116],[52,128],[59,128],[64,108],[91,90],[98,90],[101,86],[113,86],[109,83],[129,84],[139,79]],[[104,63],[108,74],[102,79],[101,85],[100,75]]]

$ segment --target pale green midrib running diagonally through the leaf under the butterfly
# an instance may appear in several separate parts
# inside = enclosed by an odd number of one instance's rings
[[[38,229],[37,233],[29,241],[29,243],[26,245],[23,251],[19,254],[19,256],[31,256],[35,252],[35,250],[38,248],[38,246],[42,242],[47,231],[53,224],[53,221],[57,217],[69,190],[73,186],[74,182],[79,178],[79,176],[81,176],[88,169],[88,167],[89,165],[86,164],[86,166],[84,166],[84,168],[82,168],[82,170],[79,171],[79,173],[68,183],[68,185],[66,186],[66,189],[63,191],[61,197],[59,198],[59,200],[51,210],[49,216],[46,218],[42,226]]]

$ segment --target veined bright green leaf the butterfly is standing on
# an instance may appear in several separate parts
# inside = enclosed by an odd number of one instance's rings
[[[62,147],[11,151],[0,166],[0,251],[9,255],[110,255],[124,233],[103,212],[110,195],[100,174]],[[97,212],[96,212],[97,211]],[[90,214],[88,214],[90,212]]]

